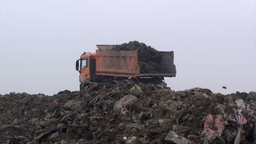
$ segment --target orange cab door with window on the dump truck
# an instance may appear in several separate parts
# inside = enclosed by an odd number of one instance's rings
[[[81,59],[81,64],[80,64],[80,68],[81,68],[81,72],[80,72],[80,82],[83,83],[84,80],[86,79],[90,79],[90,59],[86,58],[86,59]]]

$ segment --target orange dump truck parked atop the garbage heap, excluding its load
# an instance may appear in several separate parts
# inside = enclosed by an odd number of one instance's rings
[[[163,65],[168,73],[140,73],[138,51],[109,51],[115,45],[96,45],[96,53],[84,52],[76,61],[79,71],[80,91],[91,82],[130,83],[130,80],[163,80],[175,77],[173,51],[160,51]]]

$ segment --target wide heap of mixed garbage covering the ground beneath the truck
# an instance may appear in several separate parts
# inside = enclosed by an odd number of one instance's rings
[[[91,83],[0,95],[1,144],[255,144],[256,92]]]

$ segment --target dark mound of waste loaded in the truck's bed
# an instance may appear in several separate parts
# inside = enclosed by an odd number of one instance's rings
[[[154,73],[169,73],[163,65],[160,51],[155,50],[144,43],[138,41],[131,41],[121,45],[115,45],[112,51],[138,51],[138,61],[140,73],[154,74]]]

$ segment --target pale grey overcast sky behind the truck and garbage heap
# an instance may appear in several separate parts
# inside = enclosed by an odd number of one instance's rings
[[[0,0],[0,94],[79,90],[84,51],[131,40],[174,51],[175,91],[256,91],[256,0]]]

